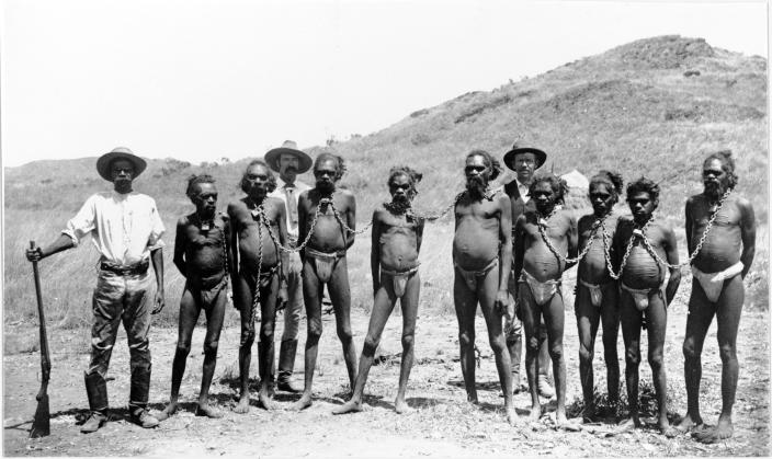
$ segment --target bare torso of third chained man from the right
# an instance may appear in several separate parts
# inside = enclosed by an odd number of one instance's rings
[[[612,213],[605,219],[605,232],[609,234],[609,256],[613,256],[612,242],[616,232],[616,222],[618,215]],[[606,284],[611,280],[609,268],[606,266],[605,248],[603,243],[603,230],[598,228],[594,233],[592,231],[595,216],[593,214],[586,215],[579,219],[579,252],[583,251],[590,241],[590,250],[587,255],[579,262],[578,276],[580,279],[590,284]]]

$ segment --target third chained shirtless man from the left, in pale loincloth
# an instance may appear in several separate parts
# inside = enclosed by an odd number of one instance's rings
[[[295,410],[311,405],[314,369],[321,337],[321,298],[325,285],[332,301],[338,337],[343,345],[343,359],[352,390],[356,380],[356,348],[351,333],[351,291],[345,260],[345,251],[354,243],[352,231],[356,225],[356,202],[351,192],[336,187],[344,172],[343,158],[330,152],[319,154],[314,163],[316,187],[303,192],[297,204],[298,240],[305,241],[311,229],[313,233],[300,255],[308,333],[305,387],[300,400],[293,406]]]

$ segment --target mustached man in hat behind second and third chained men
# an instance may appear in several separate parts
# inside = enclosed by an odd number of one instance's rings
[[[297,149],[297,145],[292,140],[286,140],[280,148],[274,148],[265,153],[265,162],[274,171],[279,172],[276,190],[269,196],[284,200],[287,209],[287,238],[290,245],[295,248],[303,242],[297,240],[297,199],[300,193],[310,190],[310,186],[298,182],[297,175],[311,168],[311,157]],[[279,377],[276,386],[279,390],[286,392],[299,392],[292,386],[290,378],[295,367],[295,354],[297,352],[297,333],[300,324],[300,311],[303,310],[303,263],[297,252],[282,252],[282,264],[284,266],[284,277],[287,280],[287,302],[284,309],[284,332],[282,333],[282,344],[279,351]]]

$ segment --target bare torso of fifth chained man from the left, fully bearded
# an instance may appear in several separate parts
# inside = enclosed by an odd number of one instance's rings
[[[453,261],[462,269],[485,268],[499,256],[501,207],[496,198],[473,202],[468,195],[455,207]]]

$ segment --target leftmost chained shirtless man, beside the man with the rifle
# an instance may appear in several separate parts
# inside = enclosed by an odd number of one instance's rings
[[[169,404],[158,416],[159,421],[177,412],[180,383],[185,372],[188,354],[191,352],[193,329],[202,309],[206,314],[206,337],[204,370],[195,414],[222,417],[219,412],[209,406],[208,397],[217,365],[217,342],[227,302],[230,225],[227,216],[217,214],[217,188],[211,175],[191,176],[185,194],[195,205],[195,211],[177,222],[174,265],[185,277],[185,287],[180,298],[179,335],[171,370],[171,397]]]

